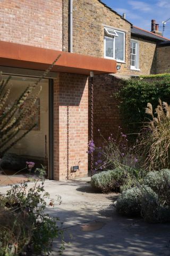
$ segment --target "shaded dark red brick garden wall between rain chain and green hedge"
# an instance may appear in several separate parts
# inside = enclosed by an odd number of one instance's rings
[[[96,75],[94,77],[94,142],[101,146],[103,138],[117,134],[118,126],[122,125],[118,101],[114,93],[118,92],[121,80],[112,75]],[[90,95],[90,86],[89,86]],[[89,139],[90,139],[90,100],[89,100]]]

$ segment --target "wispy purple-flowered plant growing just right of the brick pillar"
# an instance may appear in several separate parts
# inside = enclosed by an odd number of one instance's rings
[[[95,172],[103,170],[111,170],[116,167],[130,167],[137,169],[138,158],[134,154],[135,146],[128,145],[127,135],[122,132],[122,128],[118,126],[116,136],[111,134],[108,139],[104,138],[98,130],[99,135],[103,138],[103,145],[96,147],[94,141],[89,141],[89,154],[95,153]]]

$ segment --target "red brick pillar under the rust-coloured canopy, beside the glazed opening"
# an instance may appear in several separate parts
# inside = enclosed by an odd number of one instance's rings
[[[88,174],[88,81],[61,73],[54,83],[54,179],[67,175],[67,106],[69,106],[69,179]]]

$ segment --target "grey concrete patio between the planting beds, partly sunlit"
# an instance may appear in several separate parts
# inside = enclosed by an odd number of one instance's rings
[[[29,186],[32,186],[31,183]],[[142,219],[117,215],[117,195],[99,194],[86,179],[46,181],[52,198],[62,203],[47,212],[63,222],[65,244],[63,255],[69,256],[169,256],[170,224],[148,224]],[[6,188],[0,188],[5,192]],[[58,255],[60,242],[54,241],[52,255]]]

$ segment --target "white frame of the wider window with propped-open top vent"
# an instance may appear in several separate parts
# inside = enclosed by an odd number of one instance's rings
[[[106,30],[107,28],[105,27],[104,30]],[[109,30],[111,30],[110,28],[108,28]],[[121,30],[118,30],[118,29],[113,29],[116,32],[118,33],[122,33],[124,36],[123,36],[123,60],[117,60],[115,59],[115,36],[104,36],[104,58],[105,59],[110,59],[110,60],[116,60],[117,62],[120,62],[120,63],[125,63],[125,32],[124,31],[121,31]],[[108,33],[107,33],[108,34]],[[117,34],[117,33],[116,33]],[[118,35],[117,35],[118,36]],[[113,58],[112,57],[107,57],[106,56],[106,38],[113,38]]]

